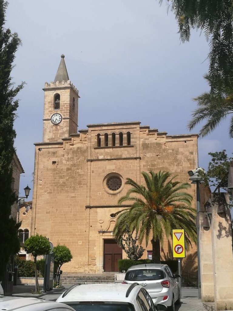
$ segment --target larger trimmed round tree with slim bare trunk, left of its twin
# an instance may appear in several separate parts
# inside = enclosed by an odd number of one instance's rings
[[[38,256],[48,254],[51,251],[49,241],[43,235],[32,235],[29,239],[24,242],[24,249],[27,254],[31,254],[34,258],[35,268],[35,292],[39,291],[36,259]]]

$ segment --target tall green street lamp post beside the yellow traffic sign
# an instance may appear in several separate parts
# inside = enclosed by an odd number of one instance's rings
[[[200,202],[200,189],[199,184],[203,183],[203,178],[198,173],[199,171],[205,172],[204,169],[201,167],[197,169],[193,169],[188,171],[190,179],[192,182],[197,185],[197,220],[196,220],[196,228],[197,228],[197,265],[198,265],[198,296],[201,299],[201,270],[200,270],[200,245],[199,245],[199,211],[201,209],[201,202]]]

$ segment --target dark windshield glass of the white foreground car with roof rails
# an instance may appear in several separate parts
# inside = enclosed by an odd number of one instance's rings
[[[135,311],[134,306],[128,303],[104,303],[85,301],[84,303],[67,303],[76,311]]]

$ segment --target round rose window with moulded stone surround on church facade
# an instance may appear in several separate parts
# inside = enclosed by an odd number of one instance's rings
[[[118,173],[109,173],[103,179],[103,188],[109,194],[117,194],[123,189],[123,177]]]

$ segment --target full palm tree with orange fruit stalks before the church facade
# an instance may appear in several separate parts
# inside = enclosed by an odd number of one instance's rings
[[[189,183],[174,181],[176,176],[170,178],[170,172],[141,174],[146,187],[126,179],[131,188],[118,203],[132,201],[133,204],[118,212],[113,235],[120,242],[129,227],[130,232],[138,233],[139,243],[145,239],[147,246],[152,234],[153,262],[160,263],[160,243],[162,245],[164,237],[168,239],[172,235],[172,229],[185,230],[187,249],[192,241],[196,243],[196,210],[191,207],[192,196],[184,191],[190,187]]]

